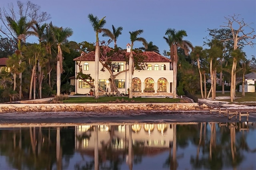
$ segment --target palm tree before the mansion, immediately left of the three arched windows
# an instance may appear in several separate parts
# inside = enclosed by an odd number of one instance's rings
[[[142,42],[144,47],[147,48],[148,42],[146,41],[145,38],[138,37],[140,34],[143,33],[143,30],[136,30],[134,32],[129,31],[129,33],[130,33],[130,41],[131,41],[131,51],[129,55],[129,89],[130,89],[129,99],[132,99],[132,75],[134,71],[134,58],[132,54],[132,48],[133,48],[134,42],[136,41]]]

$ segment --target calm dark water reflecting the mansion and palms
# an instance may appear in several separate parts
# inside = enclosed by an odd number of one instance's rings
[[[255,123],[0,128],[0,169],[256,169]]]

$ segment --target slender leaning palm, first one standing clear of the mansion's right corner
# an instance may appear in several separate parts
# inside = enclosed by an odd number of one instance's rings
[[[202,99],[204,99],[203,85],[202,85],[202,73],[201,73],[201,71],[200,71],[201,67],[200,67],[200,61],[199,61],[199,58],[204,55],[203,47],[201,47],[201,46],[196,46],[196,47],[194,48],[194,50],[191,52],[190,55],[191,55],[192,59],[196,59],[196,60],[197,60],[197,66],[198,66],[198,71],[199,71],[199,75],[200,75],[201,96],[202,96]]]

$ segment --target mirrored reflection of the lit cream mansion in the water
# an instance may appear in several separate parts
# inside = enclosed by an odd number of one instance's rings
[[[132,125],[133,146],[140,147],[147,155],[160,153],[170,147],[173,140],[171,124],[136,124]],[[76,126],[76,150],[94,150],[94,126]],[[98,149],[110,146],[113,150],[120,151],[128,148],[129,125],[99,125]],[[166,148],[166,149],[164,149]]]

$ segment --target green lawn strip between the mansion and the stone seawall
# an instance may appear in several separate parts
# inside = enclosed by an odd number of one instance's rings
[[[63,103],[114,103],[116,100],[128,101],[128,103],[178,103],[180,99],[171,98],[141,98],[136,97],[128,99],[128,97],[99,97],[94,99],[94,97],[69,97],[67,100],[63,100]],[[126,102],[122,102],[126,103]]]

